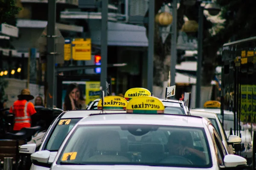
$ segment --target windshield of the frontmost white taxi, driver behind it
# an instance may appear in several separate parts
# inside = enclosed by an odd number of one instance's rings
[[[161,125],[79,125],[57,164],[212,167],[204,128]]]

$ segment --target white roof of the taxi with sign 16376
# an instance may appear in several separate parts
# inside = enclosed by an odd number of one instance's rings
[[[61,119],[67,118],[81,118],[88,116],[89,114],[99,114],[102,113],[102,110],[77,110],[77,111],[67,111],[61,116]],[[104,110],[103,113],[126,113],[126,111],[120,110]]]

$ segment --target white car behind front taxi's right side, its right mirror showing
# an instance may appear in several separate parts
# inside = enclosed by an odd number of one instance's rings
[[[234,154],[234,149],[232,147],[232,144],[240,144],[241,138],[236,135],[230,135],[229,138],[227,138],[225,130],[223,129],[221,122],[215,113],[203,112],[203,111],[190,111],[190,114],[192,116],[200,116],[200,117],[205,117],[209,119],[212,122],[212,125],[215,127],[215,130],[217,130],[221,138],[221,141],[227,150],[227,153]]]

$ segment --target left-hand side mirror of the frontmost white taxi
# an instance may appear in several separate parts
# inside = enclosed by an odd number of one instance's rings
[[[31,161],[33,164],[41,167],[51,167],[52,163],[49,163],[49,157],[50,157],[50,151],[49,150],[41,150],[38,152],[35,152],[31,154]]]

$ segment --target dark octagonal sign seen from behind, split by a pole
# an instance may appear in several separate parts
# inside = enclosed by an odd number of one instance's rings
[[[64,38],[62,37],[61,32],[55,27],[55,35],[57,37],[55,38],[55,51],[56,52],[56,63],[63,64],[64,63]],[[47,56],[47,26],[45,27],[44,31],[42,32],[41,36],[39,37],[36,47],[38,48],[38,51],[40,53],[40,59],[41,63],[46,62],[46,56]]]

